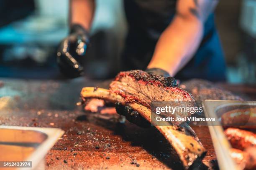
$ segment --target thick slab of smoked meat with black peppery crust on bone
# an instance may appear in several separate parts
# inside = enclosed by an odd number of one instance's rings
[[[142,70],[120,72],[110,84],[110,90],[125,100],[136,101],[150,108],[152,101],[193,101],[190,93],[166,84],[165,77]]]

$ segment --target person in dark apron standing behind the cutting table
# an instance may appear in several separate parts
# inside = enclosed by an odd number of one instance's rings
[[[180,80],[225,80],[213,14],[217,4],[218,0],[124,0],[128,35],[122,70],[141,69]],[[94,0],[70,1],[70,35],[57,53],[69,77],[82,73],[79,61],[89,43],[94,10]]]

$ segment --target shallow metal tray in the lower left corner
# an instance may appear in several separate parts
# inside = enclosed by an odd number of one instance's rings
[[[63,133],[57,128],[1,125],[0,160],[32,161],[32,169],[44,169],[44,156]]]

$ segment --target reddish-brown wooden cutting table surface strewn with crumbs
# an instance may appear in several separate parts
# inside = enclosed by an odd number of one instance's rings
[[[121,124],[118,115],[84,112],[76,105],[83,86],[104,87],[108,82],[82,78],[2,81],[0,97],[8,96],[8,100],[0,110],[0,125],[56,127],[65,131],[46,155],[49,170],[182,169],[177,154],[156,128],[143,129],[129,122]],[[246,85],[223,87],[251,100],[256,95],[256,87],[248,86],[249,90]],[[198,169],[208,169],[208,166],[216,169],[216,155],[207,126],[192,128],[207,149]]]

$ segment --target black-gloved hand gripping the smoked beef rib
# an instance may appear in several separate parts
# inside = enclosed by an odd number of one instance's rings
[[[150,68],[145,70],[148,74],[157,74],[166,77],[166,85],[176,87],[177,82],[174,77],[170,77],[169,73],[160,68]],[[115,102],[115,110],[119,115],[123,115],[126,119],[142,128],[148,128],[151,124],[142,117],[136,110],[133,110],[130,106],[123,106],[120,102]]]

